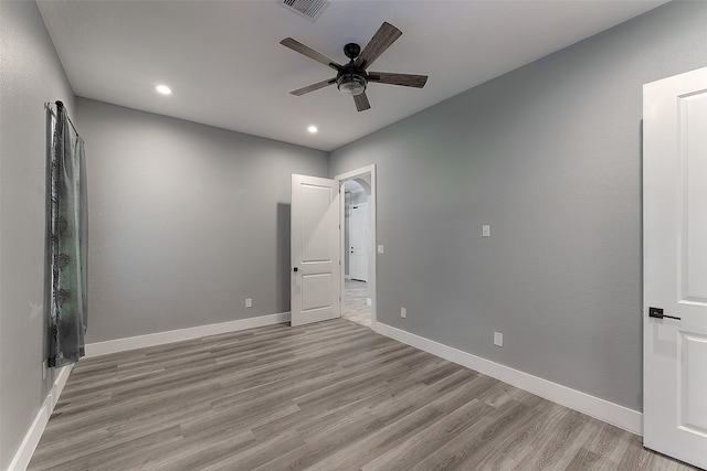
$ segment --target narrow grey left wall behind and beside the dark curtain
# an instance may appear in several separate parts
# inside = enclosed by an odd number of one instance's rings
[[[45,352],[45,101],[73,93],[34,2],[0,1],[0,469],[54,381]]]

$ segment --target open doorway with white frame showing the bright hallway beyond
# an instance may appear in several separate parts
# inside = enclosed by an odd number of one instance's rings
[[[341,175],[341,317],[376,328],[376,168]]]

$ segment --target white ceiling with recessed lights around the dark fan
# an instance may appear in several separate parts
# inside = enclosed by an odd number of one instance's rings
[[[328,151],[666,1],[333,0],[316,22],[276,0],[39,7],[76,95]],[[365,46],[383,21],[403,34],[371,68],[429,75],[423,89],[370,84],[362,113],[335,85],[288,94],[336,73],[282,39],[346,63],[344,45]]]

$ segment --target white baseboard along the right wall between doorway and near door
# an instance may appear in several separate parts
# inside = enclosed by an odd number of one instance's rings
[[[423,350],[444,360],[457,363],[487,376],[508,383],[520,389],[574,409],[588,416],[615,425],[636,435],[643,433],[643,414],[582,393],[577,389],[542,379],[481,356],[453,349],[420,335],[377,322],[376,332],[399,342]]]

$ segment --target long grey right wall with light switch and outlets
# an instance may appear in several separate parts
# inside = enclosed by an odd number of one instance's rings
[[[378,165],[378,320],[641,410],[642,84],[706,24],[666,4],[334,151]]]

